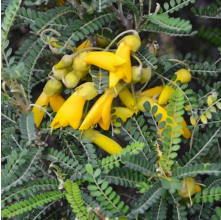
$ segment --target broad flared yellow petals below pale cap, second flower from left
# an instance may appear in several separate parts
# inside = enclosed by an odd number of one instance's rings
[[[86,100],[76,93],[72,94],[61,106],[50,127],[55,129],[71,125],[77,129],[80,125],[85,102]]]

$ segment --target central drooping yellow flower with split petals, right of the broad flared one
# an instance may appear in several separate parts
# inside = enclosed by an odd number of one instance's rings
[[[111,105],[113,99],[118,95],[122,85],[118,84],[116,90],[106,89],[104,94],[94,103],[87,113],[79,130],[87,130],[95,124],[99,124],[103,130],[108,130],[111,121]]]

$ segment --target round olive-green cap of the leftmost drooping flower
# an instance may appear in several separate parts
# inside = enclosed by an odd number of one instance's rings
[[[63,89],[63,84],[57,79],[53,78],[46,83],[43,91],[48,97],[50,97],[58,95],[59,93],[61,93],[62,89]]]

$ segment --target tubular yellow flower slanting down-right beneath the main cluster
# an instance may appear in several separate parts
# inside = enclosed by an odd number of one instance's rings
[[[119,154],[122,150],[122,147],[117,142],[98,131],[88,129],[84,131],[84,135],[85,138],[89,139],[109,154]]]

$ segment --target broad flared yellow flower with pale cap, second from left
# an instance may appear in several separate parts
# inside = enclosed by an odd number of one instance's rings
[[[80,125],[86,100],[97,96],[97,90],[91,82],[84,83],[66,100],[52,121],[51,128],[66,127],[77,129]]]

